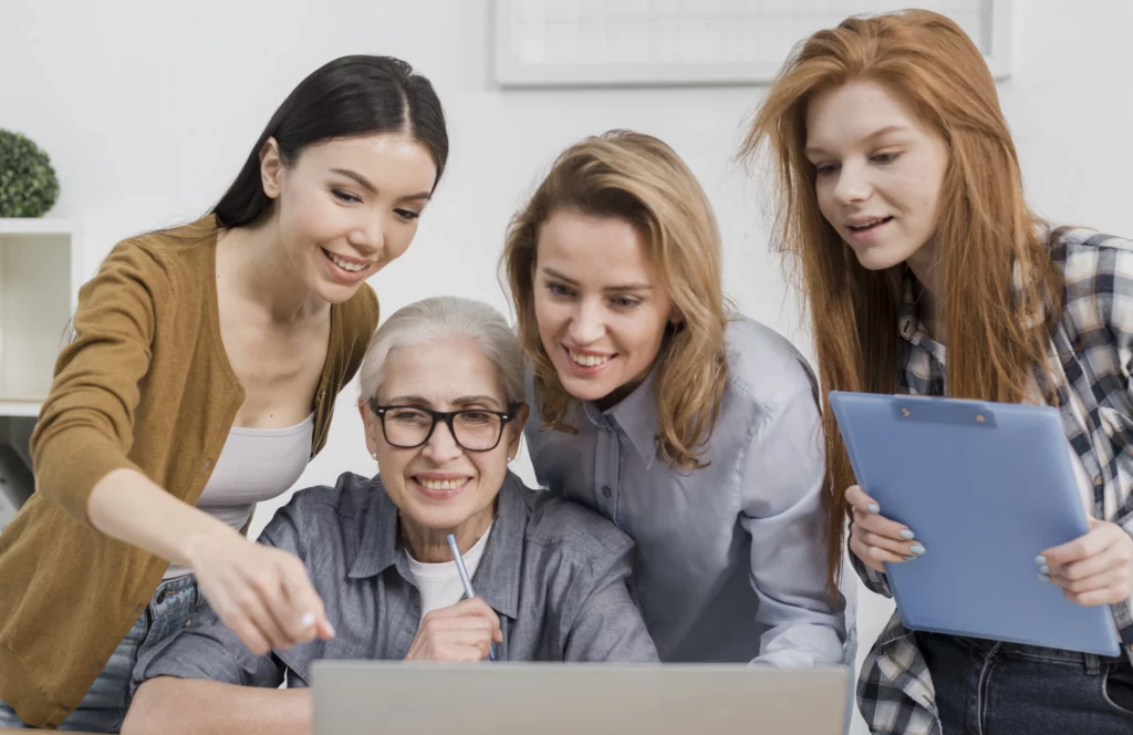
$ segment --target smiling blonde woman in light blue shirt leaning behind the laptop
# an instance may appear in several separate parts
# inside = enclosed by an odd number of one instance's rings
[[[662,660],[841,664],[816,383],[783,337],[729,313],[683,161],[630,132],[571,146],[503,261],[539,483],[634,539]]]

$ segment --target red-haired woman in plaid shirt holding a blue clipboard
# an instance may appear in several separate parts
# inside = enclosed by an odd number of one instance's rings
[[[1092,530],[1020,554],[1075,603],[1110,606],[1126,647],[1106,658],[913,633],[894,615],[858,688],[871,732],[1128,733],[1133,243],[1031,212],[991,74],[935,12],[849,18],[808,39],[747,149],[765,145],[824,387],[1057,406]],[[854,484],[826,416],[832,549],[850,514],[858,572],[889,594],[883,565],[915,568],[931,544]]]

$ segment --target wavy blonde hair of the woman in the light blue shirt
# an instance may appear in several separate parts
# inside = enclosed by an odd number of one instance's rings
[[[563,388],[535,319],[539,229],[572,210],[633,225],[681,315],[657,356],[657,454],[695,470],[719,414],[727,379],[721,244],[708,197],[676,153],[655,137],[611,130],[559,155],[508,228],[502,268],[516,303],[519,340],[530,358],[545,428],[573,432],[577,399]]]

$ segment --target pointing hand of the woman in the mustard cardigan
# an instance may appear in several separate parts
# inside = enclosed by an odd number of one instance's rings
[[[216,617],[252,652],[334,637],[323,600],[295,555],[232,532],[195,539],[186,556]]]

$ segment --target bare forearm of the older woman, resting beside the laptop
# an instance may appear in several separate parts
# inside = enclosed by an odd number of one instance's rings
[[[310,690],[275,690],[162,676],[143,684],[122,735],[310,733]]]

